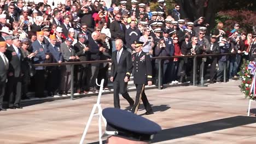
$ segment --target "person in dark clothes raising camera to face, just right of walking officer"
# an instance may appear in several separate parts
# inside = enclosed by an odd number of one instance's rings
[[[159,40],[158,45],[156,46],[154,53],[155,53],[155,57],[169,56],[170,49],[168,49],[168,47],[166,47],[164,38],[161,38]],[[160,61],[160,59],[155,60],[155,70],[156,70],[157,75],[159,75],[158,74],[159,61]],[[161,71],[161,83],[160,83],[161,87],[162,87],[162,84],[165,83],[165,81],[164,81],[165,80],[165,73],[166,73],[168,63],[169,63],[168,59],[165,59],[165,60],[161,61],[161,69],[162,69],[162,71]],[[156,79],[158,79],[158,76],[156,76],[156,77],[157,77]],[[158,82],[159,82],[159,80],[156,83],[158,83]]]

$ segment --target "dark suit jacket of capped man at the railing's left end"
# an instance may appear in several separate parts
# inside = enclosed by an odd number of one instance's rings
[[[20,58],[16,51],[14,50],[13,45],[8,47],[7,51],[5,52],[5,56],[8,58],[9,61],[8,73],[13,73],[15,77],[20,77],[21,73],[21,61],[23,59],[23,55],[20,49],[19,52]]]

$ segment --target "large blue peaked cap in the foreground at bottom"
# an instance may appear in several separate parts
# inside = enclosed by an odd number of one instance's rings
[[[136,141],[151,141],[161,127],[147,118],[125,110],[106,108],[102,111],[107,121],[103,136],[114,135]]]

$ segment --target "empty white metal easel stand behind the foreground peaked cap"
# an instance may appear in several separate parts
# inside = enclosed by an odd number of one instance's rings
[[[83,144],[84,139],[85,139],[85,135],[86,135],[86,133],[87,133],[87,131],[89,129],[90,123],[91,123],[91,119],[94,116],[98,116],[98,141],[100,142],[100,144],[102,144],[102,139],[101,139],[101,136],[102,136],[101,119],[103,120],[103,122],[105,124],[105,127],[107,125],[106,119],[102,116],[102,109],[101,109],[101,104],[100,104],[101,94],[102,94],[102,91],[103,91],[103,84],[104,84],[104,79],[101,80],[101,85],[98,85],[98,82],[97,82],[97,79],[96,79],[96,85],[100,86],[100,92],[98,92],[97,103],[94,104],[94,107],[92,107],[91,115],[90,115],[90,117],[88,119],[88,122],[86,123],[83,136],[82,136],[82,138],[80,140],[80,144]],[[98,109],[98,113],[95,113],[96,109]]]

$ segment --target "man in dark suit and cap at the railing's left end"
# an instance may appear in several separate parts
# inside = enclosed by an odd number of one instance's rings
[[[11,37],[13,45],[8,47],[5,55],[9,60],[7,96],[9,96],[10,109],[22,109],[21,100],[21,61],[23,59],[22,52],[19,48],[19,35]]]

